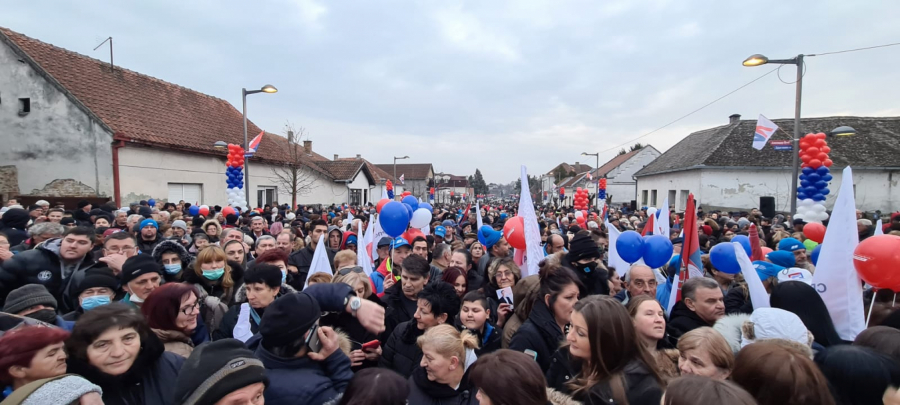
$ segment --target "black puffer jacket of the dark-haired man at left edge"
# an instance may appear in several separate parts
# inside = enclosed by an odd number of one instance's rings
[[[0,302],[6,301],[10,291],[26,284],[41,284],[53,294],[59,307],[58,313],[68,313],[78,308],[75,290],[84,279],[84,273],[97,265],[90,253],[75,266],[74,272],[63,276],[59,247],[62,239],[50,239],[41,246],[19,253],[3,262],[0,267]]]

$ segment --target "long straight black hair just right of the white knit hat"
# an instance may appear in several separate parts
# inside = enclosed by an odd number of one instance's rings
[[[825,347],[844,343],[834,329],[825,301],[809,284],[801,281],[778,283],[772,288],[769,304],[800,317],[806,329],[813,333],[816,343]]]

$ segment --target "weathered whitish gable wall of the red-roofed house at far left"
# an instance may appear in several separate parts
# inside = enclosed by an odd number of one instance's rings
[[[25,116],[20,98],[31,100]],[[0,165],[16,166],[20,194],[73,179],[93,190],[81,196],[112,196],[111,143],[111,133],[0,42]]]

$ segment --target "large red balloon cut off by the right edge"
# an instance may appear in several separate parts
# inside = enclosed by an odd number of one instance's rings
[[[876,235],[859,242],[853,267],[859,278],[877,289],[900,291],[900,236]]]

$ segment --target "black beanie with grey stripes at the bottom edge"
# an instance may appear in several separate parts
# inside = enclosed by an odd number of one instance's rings
[[[204,343],[181,366],[175,383],[175,402],[213,405],[234,391],[260,382],[269,386],[266,369],[241,341]]]

